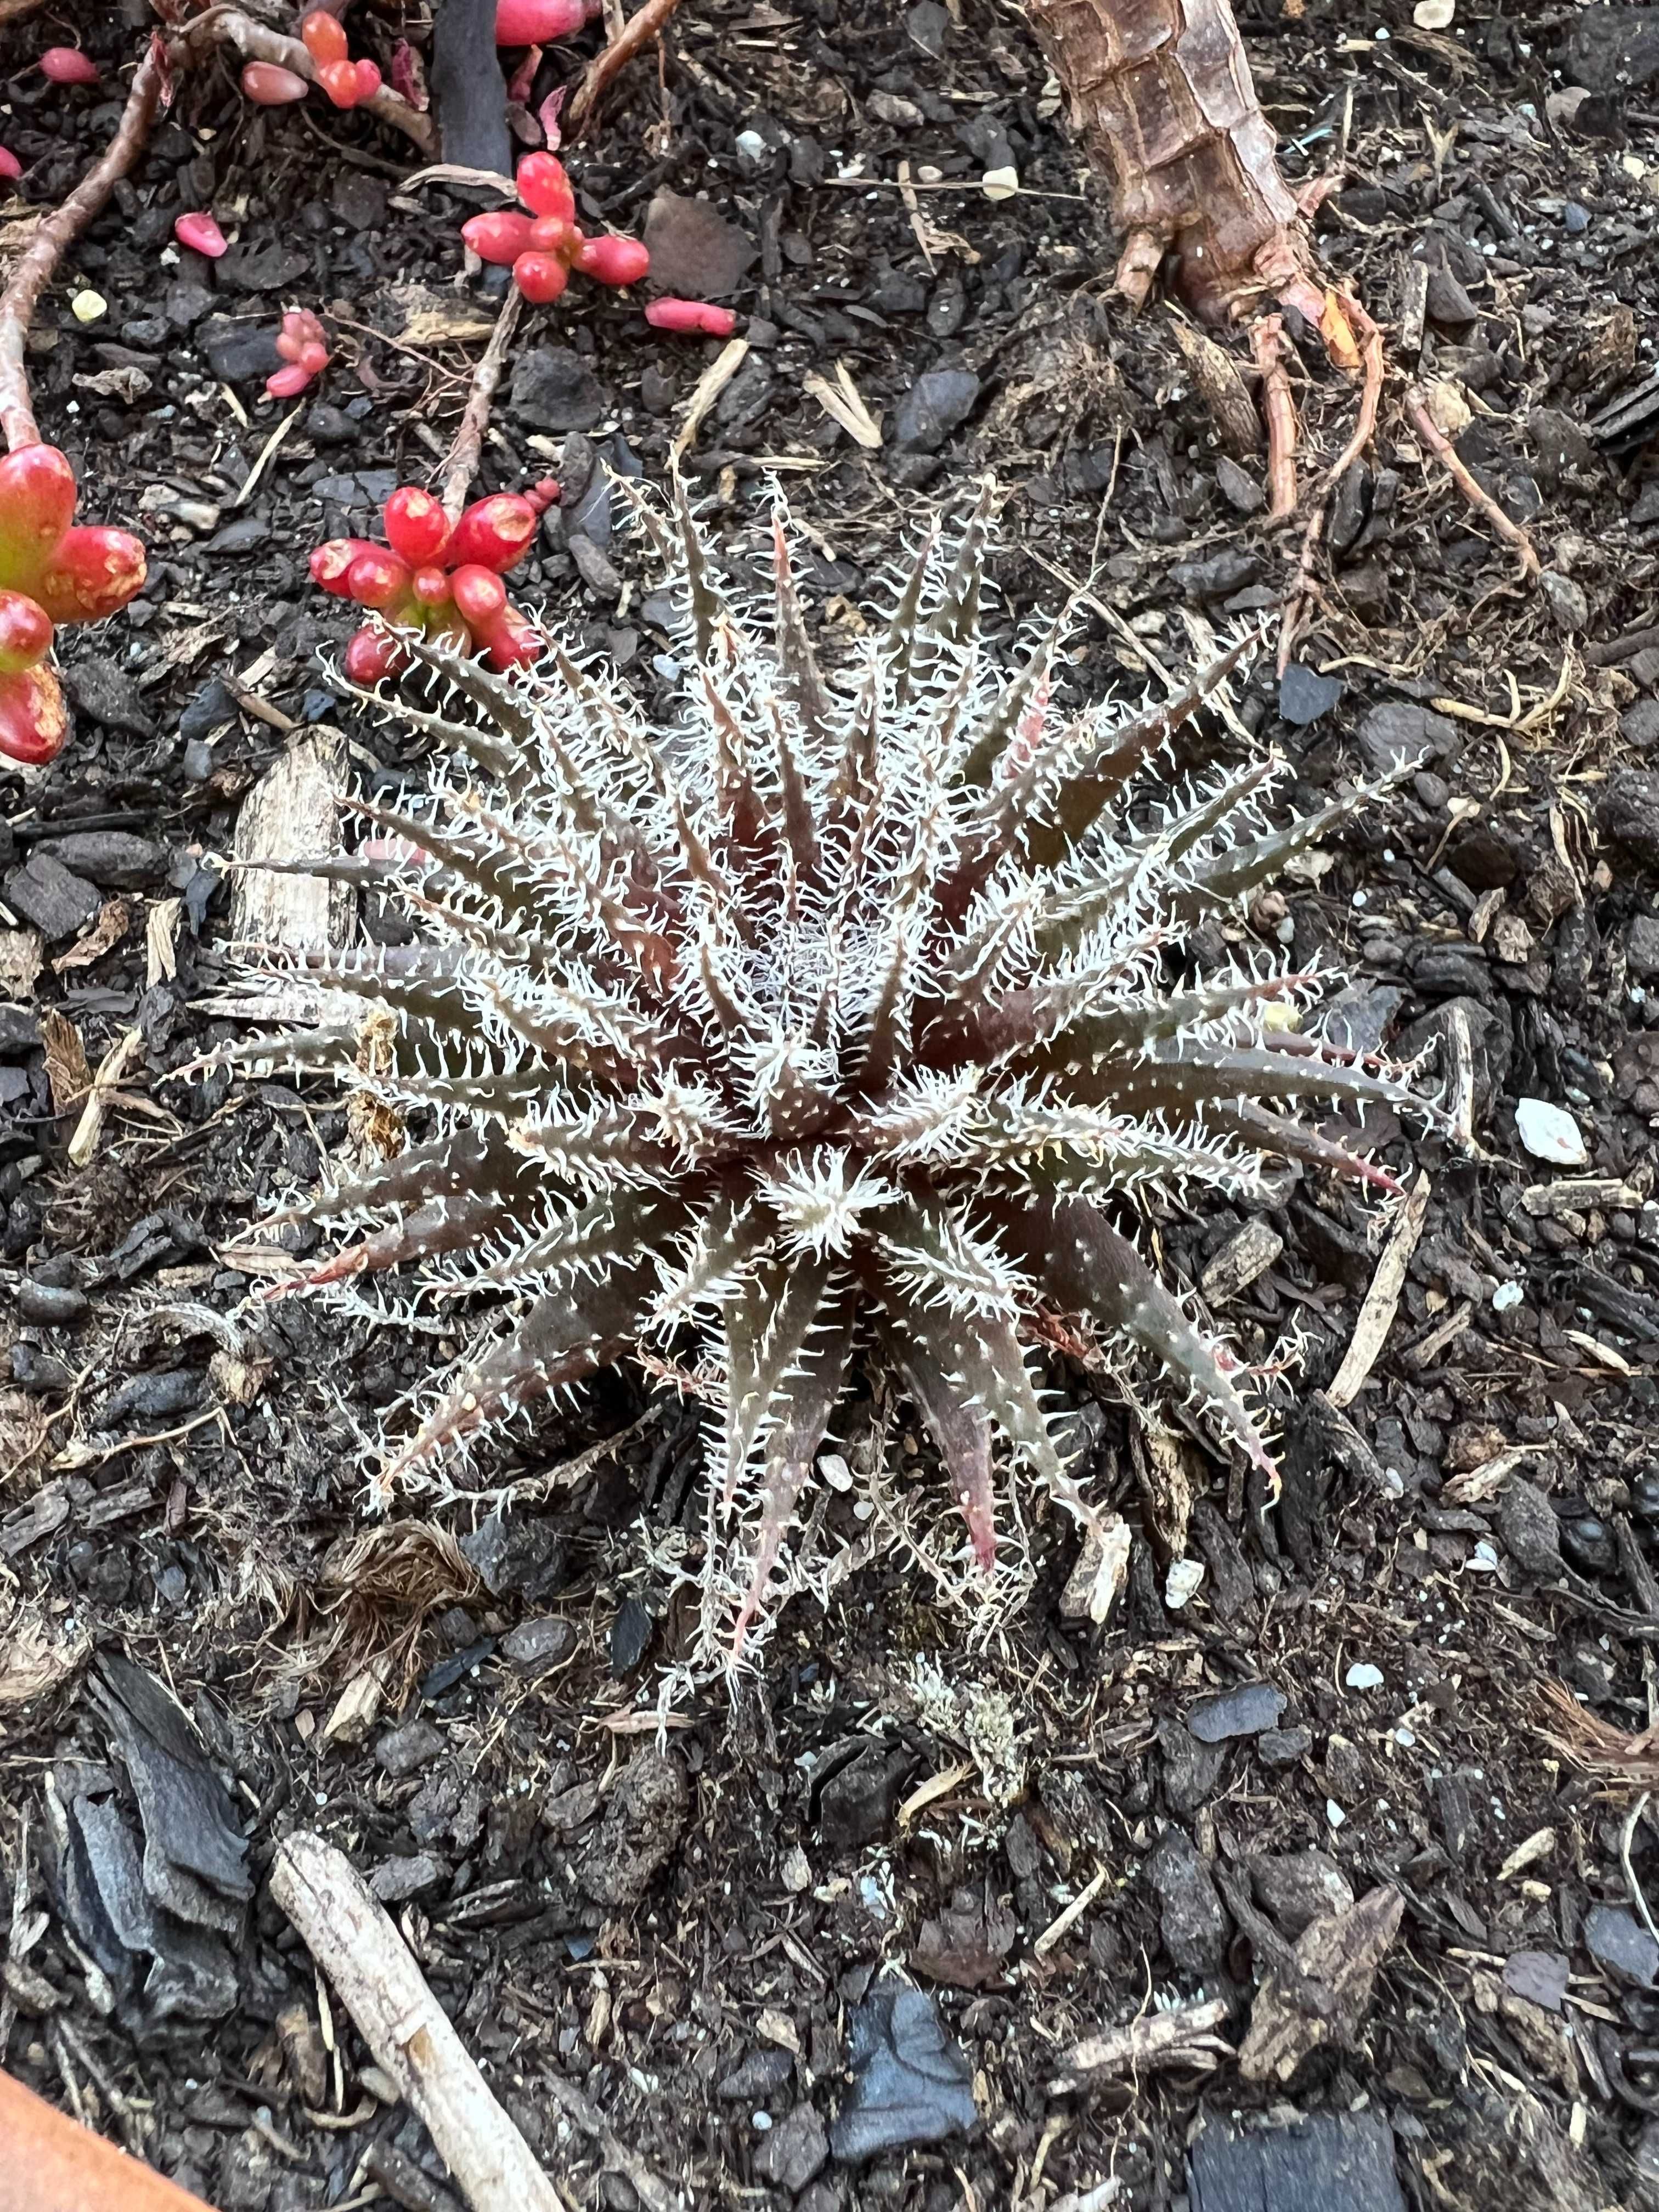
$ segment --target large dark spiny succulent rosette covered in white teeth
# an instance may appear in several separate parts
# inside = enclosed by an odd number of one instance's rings
[[[383,1274],[380,1312],[484,1316],[394,1416],[378,1500],[630,1349],[672,1358],[712,1407],[708,1657],[765,1617],[860,1352],[916,1402],[987,1568],[1000,1451],[1097,1522],[1029,1349],[1062,1316],[1272,1471],[1239,1365],[1133,1217],[1250,1197],[1267,1155],[1396,1190],[1298,1119],[1413,1104],[1405,1071],[1298,1033],[1312,973],[1263,953],[1170,980],[1199,918],[1371,794],[1267,827],[1274,761],[1170,790],[1170,734],[1254,639],[1144,712],[1055,703],[1068,617],[1004,668],[984,507],[927,538],[838,679],[781,513],[772,608],[741,615],[684,507],[641,513],[679,606],[672,721],[557,639],[498,679],[411,635],[451,708],[378,703],[458,765],[403,810],[356,801],[378,858],[334,872],[420,942],[301,962],[319,1026],[234,1053],[334,1068],[416,1124],[279,1217],[352,1230],[299,1285],[363,1312]],[[292,993],[281,956],[261,973]]]

